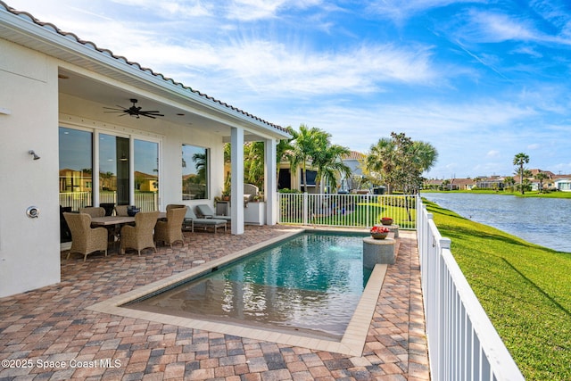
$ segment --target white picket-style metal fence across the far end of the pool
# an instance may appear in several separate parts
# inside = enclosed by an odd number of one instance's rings
[[[277,222],[370,228],[382,217],[401,229],[416,228],[415,195],[277,194]]]

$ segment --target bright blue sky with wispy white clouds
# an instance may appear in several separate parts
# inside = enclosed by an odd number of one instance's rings
[[[571,3],[12,0],[186,86],[367,153],[392,131],[428,178],[571,173]]]

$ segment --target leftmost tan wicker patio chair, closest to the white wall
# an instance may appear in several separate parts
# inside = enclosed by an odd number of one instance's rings
[[[71,248],[66,259],[70,259],[71,253],[83,254],[84,262],[90,253],[105,252],[107,256],[106,228],[91,228],[91,216],[87,213],[64,212],[63,218],[71,231]]]

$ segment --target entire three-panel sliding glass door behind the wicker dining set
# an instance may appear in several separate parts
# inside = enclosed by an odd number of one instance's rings
[[[114,205],[134,204],[142,211],[159,210],[159,146],[158,141],[61,127],[62,208],[95,205],[112,211]]]

